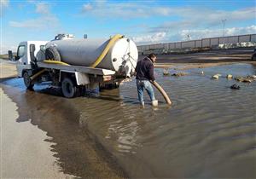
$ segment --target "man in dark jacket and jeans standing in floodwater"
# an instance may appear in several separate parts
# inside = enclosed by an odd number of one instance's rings
[[[144,106],[143,90],[148,92],[152,106],[158,106],[158,101],[155,100],[154,90],[150,81],[154,82],[154,62],[156,61],[156,55],[150,54],[146,56],[142,61],[137,62],[136,66],[136,84],[138,100]]]

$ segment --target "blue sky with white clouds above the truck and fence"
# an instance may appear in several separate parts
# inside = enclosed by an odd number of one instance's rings
[[[1,51],[58,33],[124,34],[138,45],[256,33],[255,0],[0,0]]]

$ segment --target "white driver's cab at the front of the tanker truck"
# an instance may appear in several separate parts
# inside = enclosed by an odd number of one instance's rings
[[[31,61],[33,58],[42,59],[40,51],[44,50],[44,45],[48,41],[26,41],[19,43],[17,56],[15,57],[18,77],[22,77],[25,69],[32,69]],[[32,50],[33,49],[33,50]]]

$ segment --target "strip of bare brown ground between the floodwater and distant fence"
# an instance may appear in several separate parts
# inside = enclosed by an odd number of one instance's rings
[[[251,60],[252,55],[253,48],[212,50],[187,55],[157,55],[155,67],[172,67],[186,70],[189,68],[229,65],[237,62],[256,64],[256,61]],[[143,58],[143,56],[140,56],[140,58]]]

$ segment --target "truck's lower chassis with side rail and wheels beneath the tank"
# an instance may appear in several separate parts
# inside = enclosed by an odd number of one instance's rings
[[[88,66],[64,66],[36,62],[31,69],[23,69],[22,77],[27,89],[34,84],[51,81],[52,85],[61,87],[62,94],[67,98],[83,95],[85,90],[115,89],[124,77],[115,75],[112,70]]]

